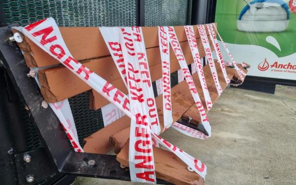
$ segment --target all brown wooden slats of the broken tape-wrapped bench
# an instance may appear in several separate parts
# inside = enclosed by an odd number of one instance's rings
[[[194,26],[193,28],[199,54],[202,58],[205,56],[202,41],[199,32],[197,31],[197,27]],[[109,81],[114,87],[123,93],[128,93],[98,28],[61,27],[59,29],[67,47],[76,60],[83,63],[83,65],[91,69],[94,73]],[[187,65],[192,64],[193,58],[184,27],[175,26],[174,29],[179,39]],[[142,30],[146,45],[151,80],[153,82],[162,77],[158,28],[143,27]],[[17,31],[13,30],[13,32]],[[51,57],[27,37],[24,36],[24,42],[18,43],[18,45],[24,52],[24,58],[27,66],[41,68],[38,71],[38,79],[41,86],[40,92],[47,102],[61,101],[88,91],[90,97],[90,109],[98,110],[110,103],[102,95],[92,90],[91,87],[75,76],[70,70],[60,65],[58,60]],[[212,45],[211,50],[214,50]],[[227,84],[223,78],[222,69],[217,61],[215,61],[215,65],[220,85],[222,90],[224,90],[227,87]],[[250,67],[248,64],[246,65]],[[239,68],[245,73],[248,72],[241,64],[239,64]],[[179,69],[180,65],[178,60],[174,51],[170,48],[170,72],[173,73]],[[205,65],[203,67],[203,71],[208,91],[210,93],[212,103],[214,104],[219,98],[219,95],[209,65]],[[239,75],[235,69],[226,67],[226,72],[229,79],[239,79]],[[192,79],[201,98],[201,102],[204,107],[206,107],[198,74],[192,74]],[[171,89],[171,101],[173,123],[178,121],[180,118],[188,119],[189,117],[192,118],[192,124],[198,125],[200,123],[198,109],[194,103],[186,81],[179,83]],[[155,98],[155,103],[161,130],[163,130],[162,94]],[[205,111],[207,112],[208,110]],[[128,166],[130,121],[131,120],[128,116],[123,116],[114,121],[112,124],[91,134],[84,139],[86,141],[83,147],[84,151],[89,153],[106,154],[114,148],[114,152],[118,154],[116,159],[120,162],[120,164]],[[203,179],[197,173],[188,171],[187,165],[174,153],[156,147],[153,147],[153,153],[157,178],[177,185],[204,184]]]

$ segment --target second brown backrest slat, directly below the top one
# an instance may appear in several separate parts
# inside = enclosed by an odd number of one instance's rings
[[[201,40],[197,39],[196,41],[199,48],[202,48]],[[187,63],[190,64],[193,59],[188,42],[186,41],[180,43],[180,45],[185,53]],[[205,55],[203,49],[200,49],[200,54],[201,56]],[[152,81],[155,81],[161,78],[162,74],[159,47],[148,48],[147,55],[151,79]],[[172,49],[170,57],[171,72],[180,69],[180,65]],[[90,61],[85,61],[83,64],[105,80],[111,82],[111,84],[119,90],[127,93],[126,87],[124,86],[124,83],[111,56],[92,59]],[[47,102],[61,101],[91,89],[86,83],[84,83],[64,66],[39,70],[38,78],[41,86],[41,93]],[[100,99],[102,98],[100,97]],[[100,105],[99,108],[101,106],[102,105]],[[98,106],[95,106],[95,108],[98,108]]]

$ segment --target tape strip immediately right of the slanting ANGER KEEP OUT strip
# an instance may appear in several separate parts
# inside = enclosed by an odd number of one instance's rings
[[[197,74],[198,74],[199,82],[201,84],[201,88],[205,97],[206,106],[207,106],[207,109],[210,110],[213,106],[213,103],[210,97],[210,93],[208,91],[206,78],[203,72],[203,64],[200,61],[200,56],[197,48],[195,34],[193,31],[193,26],[184,26],[184,28],[185,28],[187,40],[190,46],[191,54],[194,60],[194,63],[191,64],[191,66],[195,65],[195,67],[197,68]]]

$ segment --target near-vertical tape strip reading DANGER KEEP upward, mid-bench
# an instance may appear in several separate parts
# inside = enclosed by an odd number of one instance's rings
[[[173,123],[171,100],[170,40],[167,27],[158,27],[158,41],[162,66],[162,106],[164,130]]]

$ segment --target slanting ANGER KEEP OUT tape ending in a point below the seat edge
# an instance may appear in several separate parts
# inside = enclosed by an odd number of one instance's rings
[[[195,87],[195,84],[194,84],[194,81],[192,79],[192,76],[190,74],[190,71],[188,69],[188,66],[187,66],[187,63],[186,63],[186,60],[185,60],[185,57],[184,57],[184,54],[183,54],[183,51],[181,49],[181,46],[180,46],[180,43],[178,41],[178,38],[176,36],[176,33],[175,33],[175,30],[174,30],[174,27],[170,27],[168,26],[168,29],[169,29],[169,35],[170,35],[170,44],[174,50],[174,53],[178,59],[178,62],[180,64],[180,67],[183,71],[183,74],[185,76],[185,80],[189,86],[189,89],[190,89],[190,93],[194,99],[194,102],[199,110],[199,115],[201,117],[201,124],[204,126],[204,128],[206,129],[206,131],[208,132],[209,134],[209,137],[211,137],[211,126],[210,126],[210,123],[208,121],[208,117],[207,117],[207,114],[206,114],[206,111],[202,105],[202,102],[200,100],[200,97],[198,95],[198,92],[197,92],[197,89]]]

